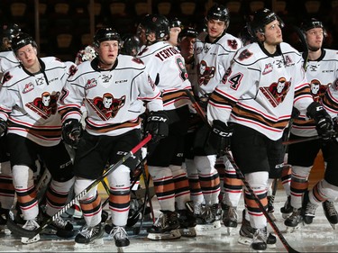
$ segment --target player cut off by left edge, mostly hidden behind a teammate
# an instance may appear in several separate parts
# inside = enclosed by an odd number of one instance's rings
[[[15,58],[11,48],[11,42],[12,39],[21,32],[21,29],[15,23],[5,23],[2,25],[1,29],[0,80],[4,76],[6,70],[19,65],[19,61]],[[15,190],[5,136],[0,139],[0,147],[0,181],[3,184],[3,187],[0,187],[0,230],[5,231],[8,212],[14,203]]]

